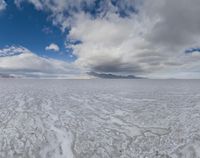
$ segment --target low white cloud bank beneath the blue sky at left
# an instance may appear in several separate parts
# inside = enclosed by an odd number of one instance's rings
[[[0,49],[0,52],[4,50],[7,52],[13,51],[14,53],[7,53],[6,56],[0,57],[0,74],[63,78],[73,78],[81,75],[80,70],[73,64],[37,56],[23,47],[11,46]]]

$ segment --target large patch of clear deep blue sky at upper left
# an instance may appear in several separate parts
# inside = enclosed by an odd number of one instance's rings
[[[0,15],[0,47],[23,45],[40,56],[66,61],[75,59],[71,50],[64,47],[65,35],[52,25],[46,12],[36,10],[30,3],[19,8],[13,0],[6,2],[7,8]],[[51,43],[59,46],[59,53],[45,50]]]

